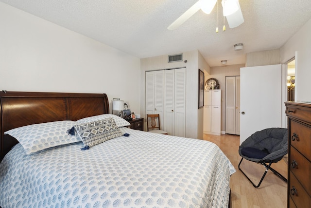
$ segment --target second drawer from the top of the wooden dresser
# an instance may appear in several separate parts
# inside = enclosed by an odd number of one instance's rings
[[[311,129],[294,120],[290,121],[291,145],[311,161]]]

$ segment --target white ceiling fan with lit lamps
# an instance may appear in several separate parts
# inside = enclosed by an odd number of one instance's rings
[[[183,24],[200,9],[202,9],[204,13],[209,14],[213,10],[216,2],[217,0],[198,0],[184,14],[176,19],[167,29],[177,29],[181,24]],[[230,28],[237,27],[244,22],[239,0],[222,0],[222,5],[224,16],[226,17]]]

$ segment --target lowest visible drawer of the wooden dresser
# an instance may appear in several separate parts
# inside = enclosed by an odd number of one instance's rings
[[[309,177],[306,176],[306,177]],[[297,208],[310,208],[311,198],[306,192],[306,190],[300,185],[294,174],[289,172],[289,195],[293,199],[294,204]]]

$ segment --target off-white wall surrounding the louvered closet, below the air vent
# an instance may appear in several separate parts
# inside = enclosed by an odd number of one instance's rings
[[[198,120],[198,113],[203,114],[203,108],[198,110],[198,54],[199,52],[183,52],[183,61],[168,63],[167,55],[142,58],[141,62],[141,115],[145,114],[145,72],[161,69],[186,67],[186,137],[203,138],[203,116]],[[185,63],[187,60],[187,63]],[[202,127],[201,127],[202,126]],[[198,130],[202,128],[202,131]]]

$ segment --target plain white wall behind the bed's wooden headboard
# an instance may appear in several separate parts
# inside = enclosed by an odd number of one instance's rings
[[[0,90],[106,93],[139,112],[139,58],[2,2],[0,28]]]

